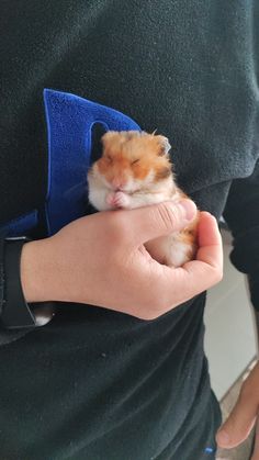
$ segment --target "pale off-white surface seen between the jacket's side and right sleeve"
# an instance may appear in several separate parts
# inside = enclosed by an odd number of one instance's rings
[[[218,400],[222,400],[257,354],[246,279],[228,259],[232,244],[225,231],[223,239],[224,278],[209,292],[204,318],[205,351],[212,388]]]

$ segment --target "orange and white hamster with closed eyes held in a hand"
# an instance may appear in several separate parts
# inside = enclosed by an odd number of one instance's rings
[[[98,211],[131,210],[188,198],[177,186],[167,137],[146,132],[106,132],[103,152],[88,171],[89,201]],[[198,216],[181,232],[145,244],[150,256],[180,267],[195,256]]]

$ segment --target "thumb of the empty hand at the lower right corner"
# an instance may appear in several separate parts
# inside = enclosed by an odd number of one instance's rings
[[[217,445],[232,449],[248,438],[257,419],[257,404],[241,394],[227,420],[216,435]]]

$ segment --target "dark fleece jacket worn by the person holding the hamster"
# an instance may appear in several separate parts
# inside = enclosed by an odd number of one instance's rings
[[[3,0],[0,21],[0,225],[45,200],[43,88],[74,92],[170,138],[179,184],[224,213],[259,308],[258,2]],[[219,418],[203,307],[142,322],[60,305],[1,347],[3,458],[207,458]],[[0,343],[18,335],[1,328]]]

